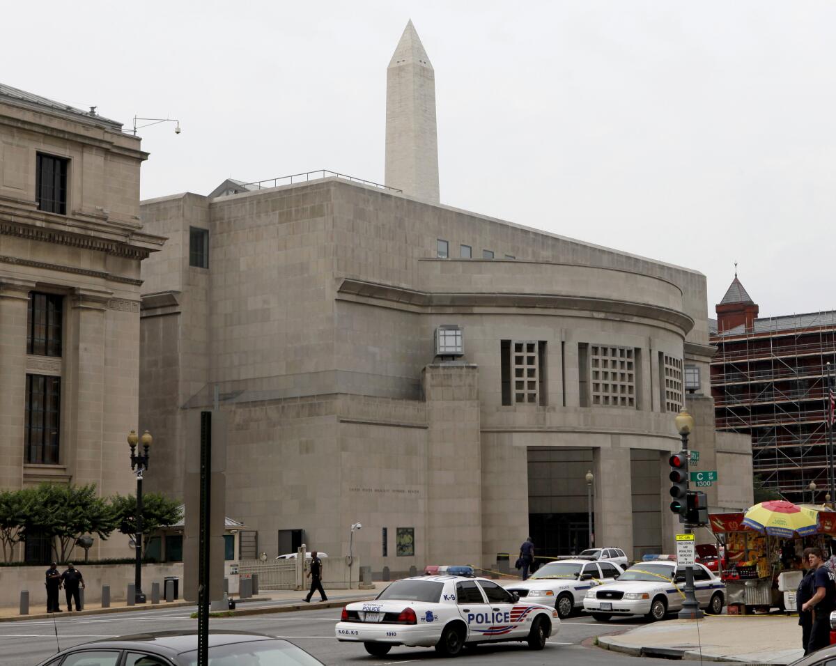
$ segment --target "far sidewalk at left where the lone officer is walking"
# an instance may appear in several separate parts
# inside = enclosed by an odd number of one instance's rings
[[[303,597],[305,597],[308,594],[307,590],[260,590],[258,592],[257,597],[252,597],[249,599],[240,600],[237,596],[232,596],[231,598],[236,602],[236,609],[234,611],[230,611],[229,613],[232,616],[235,616],[256,615],[262,613],[287,613],[290,611],[302,610],[305,608],[339,608],[349,602],[367,601],[369,599],[373,599],[380,593],[380,590],[382,590],[387,585],[389,585],[388,582],[375,582],[375,587],[367,590],[326,590],[325,592],[326,594],[328,594],[328,601],[313,601],[310,603],[305,603],[303,601]],[[62,608],[64,608],[63,598],[61,598],[61,602]],[[28,615],[20,615],[18,613],[19,608],[17,606],[0,607],[0,623],[15,622],[19,620],[39,620],[44,618],[51,618],[51,614],[44,612],[46,609],[45,607],[45,595],[43,600],[36,599],[34,602],[29,603]],[[83,611],[73,611],[72,613],[68,613],[66,608],[64,608],[63,613],[55,613],[55,615],[59,618],[76,618],[79,616],[98,615],[105,613],[133,613],[137,611],[148,613],[153,612],[155,610],[163,610],[166,608],[184,607],[194,608],[196,607],[196,603],[187,602],[180,599],[178,601],[168,603],[164,601],[161,601],[160,603],[151,603],[149,601],[148,603],[141,603],[136,606],[128,606],[126,602],[120,601],[111,602],[110,608],[101,608],[101,605],[99,603],[85,603]]]

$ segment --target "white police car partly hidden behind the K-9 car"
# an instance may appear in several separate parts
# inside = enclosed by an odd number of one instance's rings
[[[560,560],[544,564],[527,581],[515,582],[506,589],[526,601],[554,606],[564,620],[574,609],[584,608],[587,590],[614,580],[623,571],[614,562]]]

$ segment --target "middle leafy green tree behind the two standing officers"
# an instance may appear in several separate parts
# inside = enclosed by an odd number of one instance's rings
[[[102,541],[115,530],[117,521],[112,507],[96,495],[96,486],[64,486],[42,483],[33,490],[24,521],[24,538],[43,534],[58,539],[53,544],[57,562],[66,562],[75,541],[84,534],[95,534]]]

